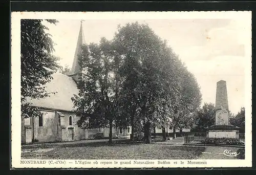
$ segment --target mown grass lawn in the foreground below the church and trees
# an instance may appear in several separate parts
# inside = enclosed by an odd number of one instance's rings
[[[22,147],[22,159],[197,159],[205,147],[143,144],[127,140]]]

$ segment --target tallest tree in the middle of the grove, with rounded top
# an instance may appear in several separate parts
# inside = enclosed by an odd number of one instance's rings
[[[157,118],[159,97],[163,95],[163,41],[147,26],[138,23],[119,28],[114,38],[117,53],[123,60],[121,77],[124,109],[130,116],[132,136],[135,117],[144,126],[145,140],[151,142],[152,123]],[[162,60],[161,60],[162,59]],[[136,111],[139,115],[136,115]]]

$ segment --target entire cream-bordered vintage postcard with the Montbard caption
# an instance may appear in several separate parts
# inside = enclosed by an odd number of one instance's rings
[[[249,11],[13,12],[11,26],[13,166],[251,166]]]

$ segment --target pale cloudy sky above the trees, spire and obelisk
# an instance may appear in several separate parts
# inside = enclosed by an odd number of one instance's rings
[[[54,55],[62,66],[72,67],[80,20],[58,19],[57,25],[45,23],[56,43]],[[82,22],[87,43],[99,42],[101,37],[112,39],[117,26],[145,23],[186,64],[200,85],[202,104],[215,103],[216,83],[225,80],[229,110],[238,113],[245,106],[245,22],[225,19],[87,19]],[[248,25],[247,25],[248,26]],[[247,40],[248,41],[248,40]]]

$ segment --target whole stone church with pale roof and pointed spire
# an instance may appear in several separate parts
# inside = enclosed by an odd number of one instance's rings
[[[46,91],[53,92],[42,99],[28,99],[32,106],[38,107],[42,117],[22,119],[22,143],[62,142],[108,138],[109,128],[81,129],[76,122],[79,120],[74,113],[71,98],[78,95],[76,82],[82,71],[77,55],[81,45],[85,43],[82,23],[77,40],[75,56],[70,75],[58,72],[52,74],[53,79],[47,83]],[[113,138],[130,138],[131,128],[113,128]]]

